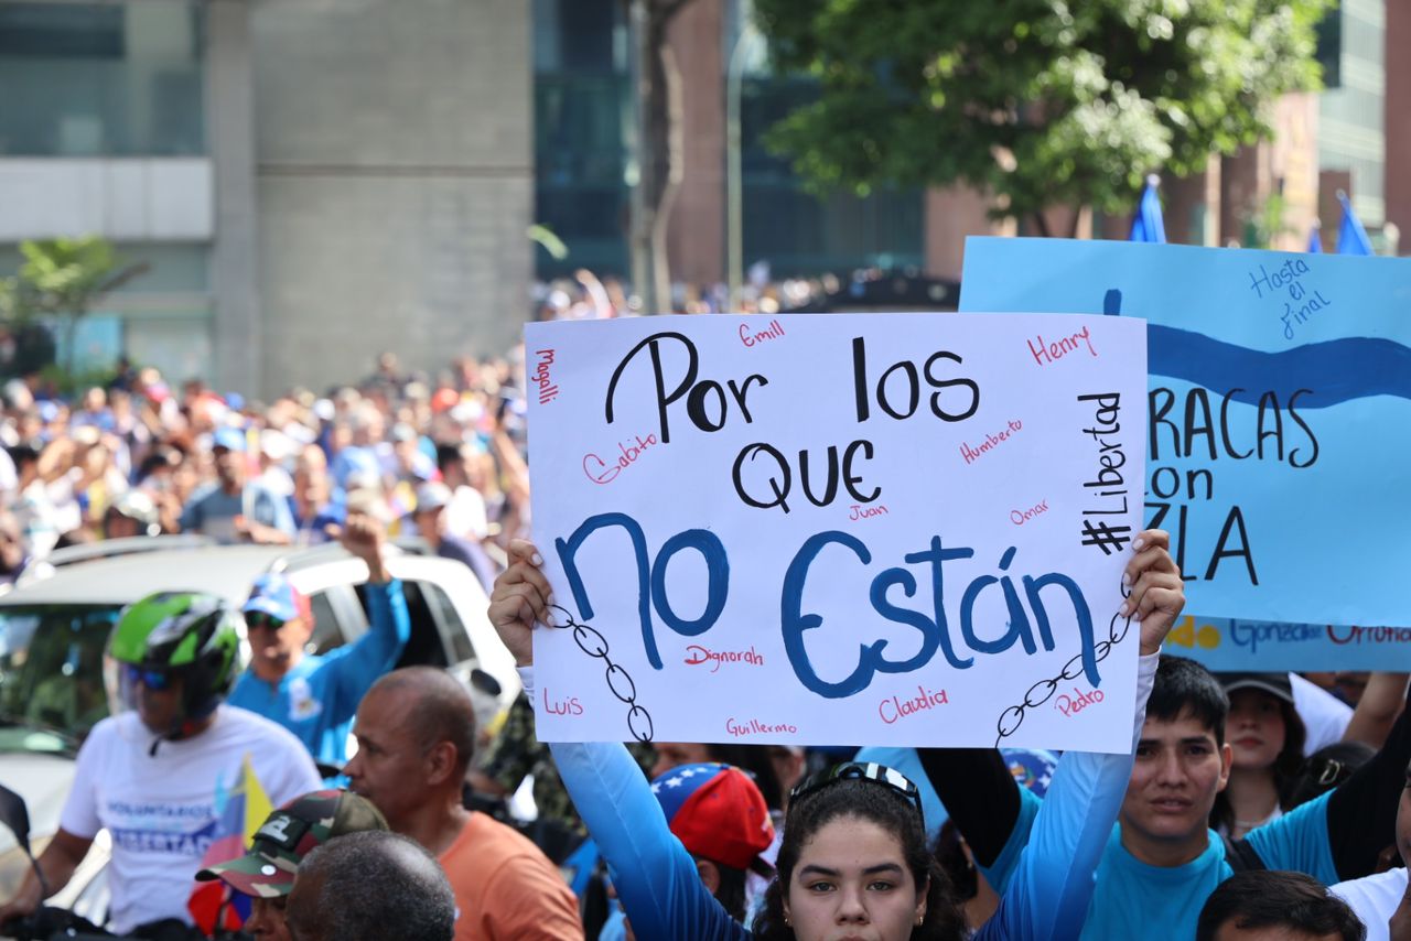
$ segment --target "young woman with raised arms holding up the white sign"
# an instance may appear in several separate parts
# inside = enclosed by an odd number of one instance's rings
[[[535,622],[550,622],[549,583],[535,547],[509,546],[490,619],[533,698]],[[1144,721],[1161,642],[1184,605],[1167,536],[1147,530],[1127,564],[1125,611],[1141,622],[1133,746]],[[574,806],[614,875],[641,938],[693,941],[961,941],[961,907],[926,842],[920,794],[897,772],[848,763],[794,787],[776,876],[753,931],[731,918],[703,883],[698,862],[672,837],[652,787],[617,743],[553,743]],[[1070,752],[1058,763],[1044,813],[1015,866],[999,909],[976,938],[1077,937],[1094,870],[1132,773],[1132,755]]]

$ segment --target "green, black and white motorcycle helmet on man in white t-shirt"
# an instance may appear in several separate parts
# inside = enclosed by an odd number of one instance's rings
[[[240,670],[240,615],[214,595],[159,591],[134,601],[117,619],[107,653],[113,712],[137,707],[137,683],[181,677],[182,708],[166,738],[182,738],[230,693]]]

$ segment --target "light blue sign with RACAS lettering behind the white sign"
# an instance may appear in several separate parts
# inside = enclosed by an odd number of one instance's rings
[[[1149,322],[1146,514],[1201,625],[1411,625],[1411,261],[971,238],[959,306]]]

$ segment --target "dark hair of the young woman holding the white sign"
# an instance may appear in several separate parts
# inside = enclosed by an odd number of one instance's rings
[[[926,917],[912,928],[912,941],[959,941],[965,917],[951,893],[950,879],[937,865],[916,807],[899,791],[866,779],[841,779],[794,800],[785,820],[785,838],[775,863],[775,879],[765,893],[765,909],[755,918],[761,941],[792,941],[785,923],[785,896],[806,842],[835,820],[875,824],[902,844],[902,858],[913,885],[926,886]]]

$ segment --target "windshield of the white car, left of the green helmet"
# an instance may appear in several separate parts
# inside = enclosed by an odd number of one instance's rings
[[[71,752],[107,715],[119,605],[0,607],[0,752]]]

